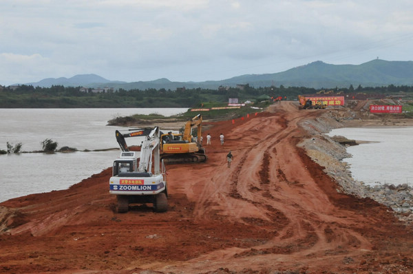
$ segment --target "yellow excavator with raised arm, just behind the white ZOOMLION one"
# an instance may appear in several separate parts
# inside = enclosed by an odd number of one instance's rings
[[[192,128],[197,128],[196,138],[192,136]],[[202,115],[198,114],[185,124],[184,132],[161,134],[160,157],[165,162],[204,162],[207,154],[202,147]]]

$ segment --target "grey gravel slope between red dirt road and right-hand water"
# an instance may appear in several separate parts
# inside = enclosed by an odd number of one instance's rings
[[[301,123],[310,138],[299,144],[306,149],[310,158],[317,162],[331,178],[340,185],[339,192],[348,193],[360,198],[372,198],[394,211],[394,214],[407,223],[413,222],[413,190],[408,185],[377,185],[370,187],[352,178],[348,163],[343,158],[351,157],[346,146],[341,145],[326,135],[330,129],[343,127],[340,120],[350,119],[356,115],[350,112],[326,112],[317,119],[308,118]]]

